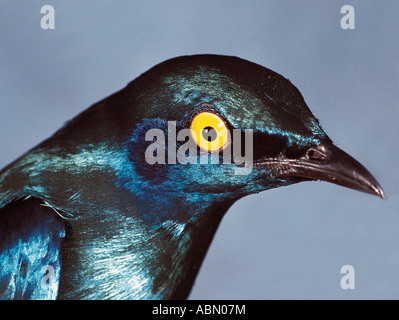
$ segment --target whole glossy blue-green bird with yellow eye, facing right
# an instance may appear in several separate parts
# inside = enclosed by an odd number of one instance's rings
[[[290,80],[168,59],[0,172],[0,297],[187,299],[233,203],[317,180],[384,198]]]

